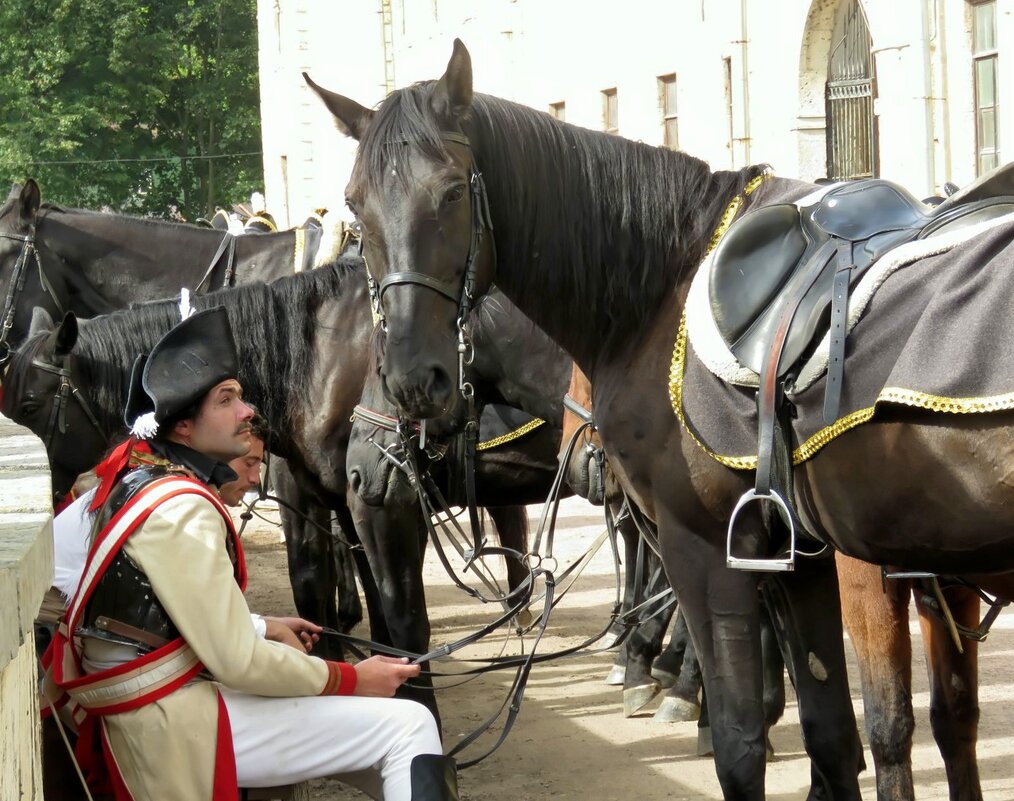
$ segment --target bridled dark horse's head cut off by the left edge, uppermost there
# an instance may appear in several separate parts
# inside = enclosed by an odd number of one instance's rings
[[[57,301],[47,290],[42,257],[35,237],[42,195],[39,185],[28,178],[14,185],[0,206],[0,364],[10,349],[24,340],[32,309],[42,306],[58,314]]]

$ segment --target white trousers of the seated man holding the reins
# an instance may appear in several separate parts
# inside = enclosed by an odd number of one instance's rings
[[[334,776],[376,799],[411,801],[412,758],[443,753],[433,715],[414,701],[221,693],[240,787]]]

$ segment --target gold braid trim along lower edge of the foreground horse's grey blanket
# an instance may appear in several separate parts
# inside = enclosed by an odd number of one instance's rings
[[[686,317],[684,314],[679,320],[679,332],[676,335],[676,345],[672,352],[672,368],[669,373],[669,399],[672,403],[672,409],[675,411],[680,425],[691,435],[694,442],[705,453],[715,459],[715,461],[736,470],[756,469],[757,457],[755,455],[728,456],[716,453],[698,439],[697,434],[691,429],[683,416],[683,369],[685,364]],[[954,415],[988,414],[990,412],[1003,412],[1014,409],[1014,392],[981,397],[944,397],[942,395],[929,394],[928,392],[920,392],[918,389],[885,386],[880,390],[876,401],[873,402],[873,406],[856,410],[843,418],[839,418],[831,425],[820,429],[808,437],[806,441],[792,451],[792,463],[801,464],[832,439],[840,437],[845,432],[851,431],[857,426],[861,426],[863,423],[868,423],[873,419],[881,404],[900,404],[916,409],[924,409],[929,412]]]

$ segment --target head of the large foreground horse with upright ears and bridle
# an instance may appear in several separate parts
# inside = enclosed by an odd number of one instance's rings
[[[443,415],[457,388],[461,320],[495,268],[486,191],[465,135],[468,52],[455,41],[438,81],[393,92],[376,112],[306,80],[360,143],[346,198],[387,331],[384,390],[412,418]]]

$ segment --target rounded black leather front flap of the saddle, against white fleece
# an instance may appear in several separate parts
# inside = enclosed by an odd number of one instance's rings
[[[774,302],[806,246],[799,209],[792,204],[757,209],[729,229],[708,276],[715,324],[727,345]]]

